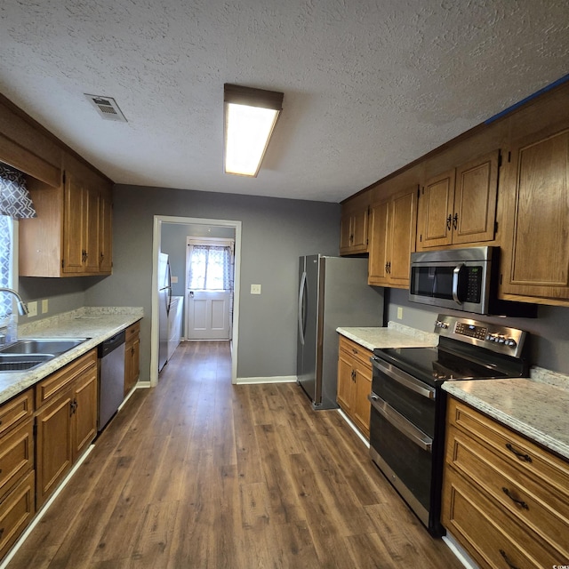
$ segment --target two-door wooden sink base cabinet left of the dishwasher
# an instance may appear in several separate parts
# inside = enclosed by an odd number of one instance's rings
[[[92,350],[36,386],[50,386],[36,413],[36,507],[60,485],[97,435],[97,351]],[[63,386],[57,389],[59,386]]]

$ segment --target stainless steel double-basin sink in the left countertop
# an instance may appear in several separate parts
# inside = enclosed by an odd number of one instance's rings
[[[21,372],[49,362],[88,338],[22,338],[0,347],[0,372]]]

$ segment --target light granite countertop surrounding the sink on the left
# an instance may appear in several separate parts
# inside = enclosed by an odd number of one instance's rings
[[[0,404],[96,348],[102,341],[108,340],[143,316],[141,308],[96,307],[77,309],[19,325],[19,338],[88,338],[89,340],[32,370],[0,372]]]

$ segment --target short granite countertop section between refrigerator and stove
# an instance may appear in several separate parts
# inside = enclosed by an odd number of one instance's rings
[[[336,332],[372,351],[376,348],[428,348],[438,344],[437,334],[422,332],[397,322],[389,322],[386,328],[340,327],[336,328]]]

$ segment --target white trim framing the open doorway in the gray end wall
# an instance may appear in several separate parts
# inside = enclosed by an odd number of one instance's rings
[[[162,224],[179,223],[180,225],[217,225],[235,228],[235,282],[233,303],[233,334],[231,350],[231,383],[237,378],[237,346],[239,343],[239,293],[241,282],[241,227],[239,220],[209,220],[193,217],[174,217],[169,215],[155,215],[152,236],[152,324],[150,328],[150,386],[156,387],[158,383],[158,252],[162,241]]]

